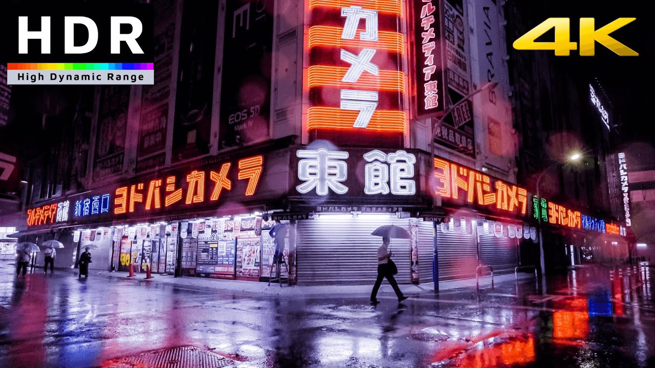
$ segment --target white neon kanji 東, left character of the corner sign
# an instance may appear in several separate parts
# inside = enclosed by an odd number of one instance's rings
[[[305,181],[295,187],[299,193],[309,193],[314,189],[320,196],[326,196],[329,189],[337,194],[348,192],[348,187],[342,184],[348,179],[348,164],[343,161],[348,158],[347,152],[299,150],[295,155],[302,158],[298,161],[298,179]]]

